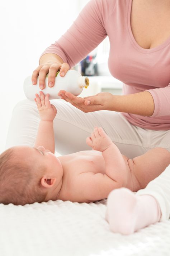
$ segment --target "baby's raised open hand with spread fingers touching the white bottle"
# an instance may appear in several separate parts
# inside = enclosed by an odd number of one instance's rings
[[[54,105],[52,105],[49,101],[49,94],[46,96],[42,91],[39,92],[39,95],[36,93],[36,98],[34,98],[37,108],[39,111],[39,115],[41,120],[43,121],[53,121],[56,114],[57,114],[57,109]]]

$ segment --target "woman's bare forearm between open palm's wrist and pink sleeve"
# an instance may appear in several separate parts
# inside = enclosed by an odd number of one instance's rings
[[[113,95],[108,110],[151,116],[154,113],[154,99],[148,91],[128,95]]]

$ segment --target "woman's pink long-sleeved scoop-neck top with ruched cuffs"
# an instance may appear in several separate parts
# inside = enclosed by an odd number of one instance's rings
[[[131,30],[132,0],[91,0],[72,26],[43,53],[55,53],[70,68],[84,59],[106,36],[110,41],[108,67],[123,82],[122,94],[149,91],[152,116],[122,113],[133,125],[152,130],[170,129],[170,37],[144,49]],[[41,56],[42,56],[41,55]]]

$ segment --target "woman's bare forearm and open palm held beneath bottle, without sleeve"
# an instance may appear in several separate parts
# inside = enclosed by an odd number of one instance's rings
[[[79,98],[61,90],[58,95],[85,113],[98,110],[126,112],[141,116],[151,116],[154,113],[154,100],[148,91],[128,95],[98,93],[95,96]]]

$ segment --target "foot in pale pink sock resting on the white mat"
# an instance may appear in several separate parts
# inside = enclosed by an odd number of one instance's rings
[[[113,232],[132,234],[156,223],[160,217],[160,207],[150,195],[137,196],[127,188],[120,188],[108,196],[106,220]]]

